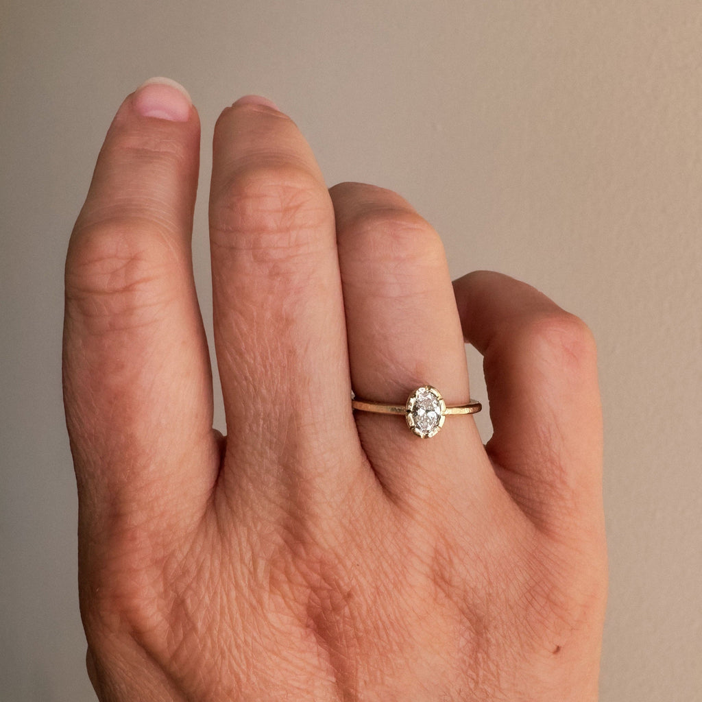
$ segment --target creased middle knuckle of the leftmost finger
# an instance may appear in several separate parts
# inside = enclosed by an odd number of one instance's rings
[[[166,303],[166,286],[158,282],[170,277],[178,258],[172,237],[153,221],[121,216],[82,227],[66,260],[69,309],[88,319],[125,322],[138,312],[146,322]]]

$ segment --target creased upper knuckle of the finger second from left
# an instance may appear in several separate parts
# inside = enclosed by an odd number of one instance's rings
[[[289,258],[314,251],[317,230],[330,221],[326,190],[307,168],[289,161],[246,166],[216,194],[213,244],[254,260]]]

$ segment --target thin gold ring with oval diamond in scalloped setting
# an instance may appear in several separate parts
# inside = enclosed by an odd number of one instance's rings
[[[466,404],[447,407],[441,393],[432,385],[417,388],[405,404],[388,404],[373,402],[359,397],[352,397],[352,409],[378,414],[404,414],[409,428],[422,439],[437,435],[449,414],[475,414],[482,409],[482,404],[470,399]]]

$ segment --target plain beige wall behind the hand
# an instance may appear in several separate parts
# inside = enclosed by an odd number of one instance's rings
[[[702,3],[4,0],[0,55],[0,699],[94,699],[62,258],[112,114],[155,74],[187,86],[203,123],[206,317],[212,128],[259,91],[329,185],[413,202],[454,275],[508,272],[590,324],[611,559],[601,698],[702,700]]]

